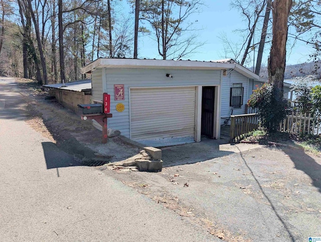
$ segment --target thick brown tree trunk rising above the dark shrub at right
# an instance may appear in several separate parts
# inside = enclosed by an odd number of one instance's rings
[[[287,19],[292,0],[274,0],[272,3],[273,40],[268,59],[269,82],[283,89],[286,60]]]

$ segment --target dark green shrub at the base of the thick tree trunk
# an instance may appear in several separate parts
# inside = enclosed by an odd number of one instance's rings
[[[261,125],[268,132],[277,131],[289,106],[288,101],[283,97],[283,91],[270,83],[264,83],[261,88],[254,90],[247,104],[258,108],[257,114]]]

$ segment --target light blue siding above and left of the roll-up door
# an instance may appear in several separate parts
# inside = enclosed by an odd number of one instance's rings
[[[166,77],[170,73],[173,78]],[[108,128],[120,130],[122,135],[129,137],[129,88],[131,87],[171,87],[171,86],[211,86],[220,84],[220,70],[166,70],[166,69],[106,69],[107,93],[110,98]],[[125,85],[125,100],[114,100],[114,84]],[[93,91],[94,92],[94,91]],[[116,111],[116,104],[123,103],[125,110]],[[149,103],[145,103],[145,107]],[[169,108],[171,108],[169,106]]]

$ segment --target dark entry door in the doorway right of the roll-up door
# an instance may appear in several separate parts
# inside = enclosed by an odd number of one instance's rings
[[[215,87],[203,86],[202,92],[201,134],[213,139]]]

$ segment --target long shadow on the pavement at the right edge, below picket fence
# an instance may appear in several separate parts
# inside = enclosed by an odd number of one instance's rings
[[[303,171],[308,175],[314,187],[321,193],[321,164],[317,163],[312,157],[301,149],[282,149],[294,163],[295,169]]]

